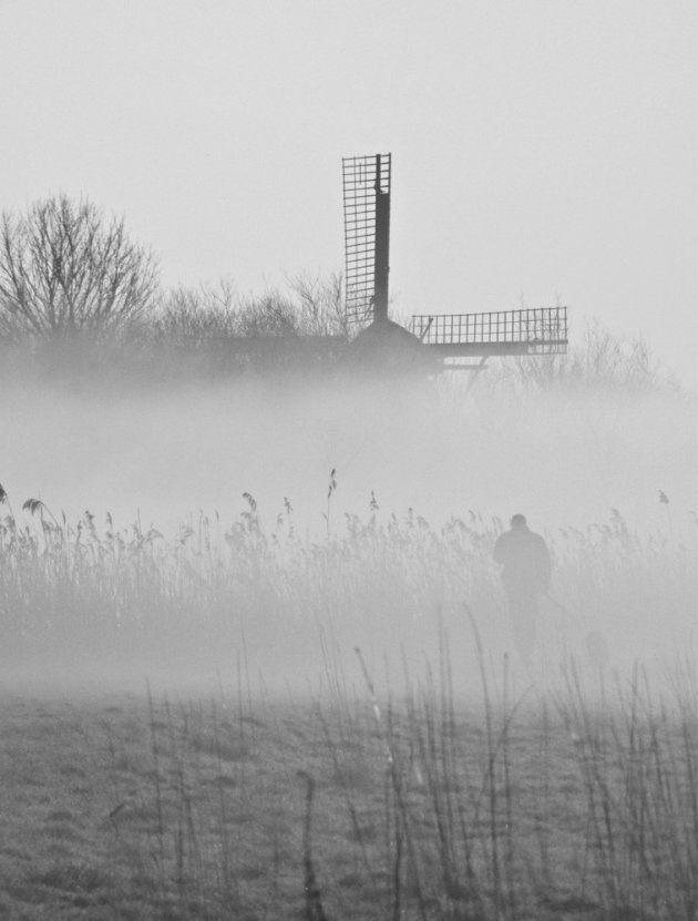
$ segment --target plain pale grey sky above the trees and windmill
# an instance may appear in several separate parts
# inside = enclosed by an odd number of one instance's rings
[[[560,299],[689,380],[696,44],[692,0],[0,0],[0,207],[247,293],[341,269],[341,157],[392,152],[397,309]]]

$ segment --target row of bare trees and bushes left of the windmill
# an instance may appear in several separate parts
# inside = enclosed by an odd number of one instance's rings
[[[4,342],[82,337],[114,342],[201,344],[222,337],[341,335],[341,277],[299,276],[287,291],[240,296],[234,286],[163,290],[152,250],[123,219],[64,195],[4,212],[0,253],[0,338]]]

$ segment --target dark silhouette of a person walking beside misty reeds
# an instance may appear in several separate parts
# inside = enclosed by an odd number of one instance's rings
[[[531,665],[538,602],[551,582],[547,546],[540,534],[528,530],[524,515],[517,514],[511,520],[511,530],[497,538],[492,556],[502,566],[516,648],[523,662]]]

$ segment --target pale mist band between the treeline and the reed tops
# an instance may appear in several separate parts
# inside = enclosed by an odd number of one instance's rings
[[[273,524],[287,498],[299,526],[412,508],[432,523],[473,510],[538,530],[602,522],[617,509],[643,530],[684,530],[695,511],[690,397],[588,390],[522,393],[444,376],[377,380],[238,380],[152,389],[4,388],[2,482],[16,503],[42,499],[75,519],[140,514],[173,534],[199,512],[224,521],[250,493]]]

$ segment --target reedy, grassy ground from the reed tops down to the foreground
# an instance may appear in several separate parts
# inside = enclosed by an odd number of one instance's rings
[[[4,495],[0,917],[694,919],[690,539],[548,534],[526,671],[501,522],[333,493],[319,540]]]

